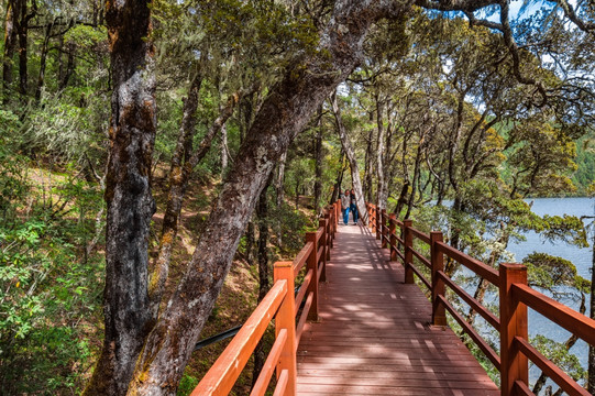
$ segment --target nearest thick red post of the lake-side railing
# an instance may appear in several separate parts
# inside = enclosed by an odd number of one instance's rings
[[[502,395],[514,395],[515,382],[529,383],[529,362],[515,344],[515,338],[528,339],[527,306],[514,298],[513,284],[527,285],[527,267],[500,264],[500,378]]]

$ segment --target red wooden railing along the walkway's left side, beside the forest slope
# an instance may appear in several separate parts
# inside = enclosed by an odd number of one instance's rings
[[[326,279],[340,211],[340,201],[326,208],[318,230],[306,233],[306,244],[296,258],[275,263],[273,287],[194,389],[192,396],[229,394],[273,319],[275,342],[250,395],[264,395],[275,371],[277,384],[273,395],[296,395],[296,351],[306,320],[318,319],[318,284]],[[302,268],[306,275],[296,295],[295,278]]]

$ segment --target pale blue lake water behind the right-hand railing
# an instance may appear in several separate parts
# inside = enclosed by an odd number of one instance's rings
[[[540,216],[572,215],[581,217],[595,215],[595,199],[593,198],[536,198],[531,200],[533,201],[531,210]],[[521,262],[525,256],[532,252],[548,253],[569,260],[576,266],[579,275],[591,280],[592,248],[580,249],[563,242],[547,242],[540,239],[535,232],[527,233],[526,238],[527,241],[510,244],[508,246],[508,250],[515,254],[517,262]],[[590,244],[592,241],[593,238],[591,237]],[[561,302],[579,310],[580,301],[566,299]],[[588,301],[587,311],[585,314],[588,315]],[[565,341],[570,337],[568,331],[531,310],[529,310],[529,333],[530,336],[540,333],[555,341]],[[583,341],[576,342],[571,350],[579,356],[585,369],[588,353],[587,350],[588,348]],[[533,369],[531,374],[532,377],[539,375],[539,370],[535,371]]]

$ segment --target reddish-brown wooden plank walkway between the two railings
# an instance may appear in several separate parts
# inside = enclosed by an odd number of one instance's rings
[[[450,329],[365,227],[340,226],[320,320],[298,350],[298,395],[499,395]]]

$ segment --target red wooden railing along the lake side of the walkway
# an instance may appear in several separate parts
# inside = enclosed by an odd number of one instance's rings
[[[538,311],[591,345],[595,345],[595,320],[527,286],[527,268],[524,265],[500,264],[499,268],[495,270],[445,244],[441,232],[430,232],[430,234],[420,232],[412,227],[411,220],[399,221],[394,213],[386,216],[384,209],[378,210],[374,205],[367,204],[366,207],[372,233],[381,240],[382,248],[390,249],[392,260],[399,260],[403,263],[405,282],[414,283],[415,274],[430,292],[432,323],[445,326],[445,312],[449,311],[463,331],[499,370],[502,395],[533,395],[528,386],[530,360],[569,395],[590,396],[586,389],[529,343],[527,308]],[[401,231],[400,235],[397,235],[397,228]],[[429,245],[430,258],[414,249],[414,240]],[[499,318],[444,273],[444,255],[461,263],[498,288]],[[416,266],[416,262],[428,268],[431,274],[430,279]],[[447,299],[447,287],[499,331],[499,355]]]

